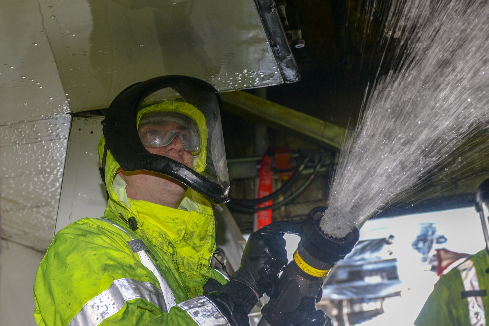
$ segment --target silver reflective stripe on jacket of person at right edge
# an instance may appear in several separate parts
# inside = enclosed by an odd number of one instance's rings
[[[479,279],[475,270],[474,262],[466,260],[464,263],[457,266],[460,270],[462,283],[466,291],[478,291]],[[486,313],[481,297],[467,297],[468,315],[471,326],[486,326]]]

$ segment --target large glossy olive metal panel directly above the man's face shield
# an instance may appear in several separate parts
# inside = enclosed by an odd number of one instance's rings
[[[72,112],[160,75],[220,91],[283,82],[253,0],[39,2]]]

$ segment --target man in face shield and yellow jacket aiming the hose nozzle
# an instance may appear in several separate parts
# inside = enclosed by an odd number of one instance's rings
[[[249,325],[247,314],[287,264],[291,222],[254,232],[230,281],[211,268],[211,202],[229,180],[221,98],[208,83],[163,76],[111,103],[98,152],[108,204],[54,237],[34,284],[40,326]],[[331,325],[299,311],[288,325]]]

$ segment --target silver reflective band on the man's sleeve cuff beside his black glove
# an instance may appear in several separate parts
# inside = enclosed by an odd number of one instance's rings
[[[224,317],[212,301],[206,296],[201,295],[178,304],[185,310],[199,326],[230,326],[231,324]]]

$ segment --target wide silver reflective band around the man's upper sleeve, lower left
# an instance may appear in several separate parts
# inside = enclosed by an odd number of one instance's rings
[[[136,298],[143,298],[160,308],[165,307],[163,295],[156,285],[123,278],[113,281],[107,290],[87,302],[71,320],[69,326],[99,325],[106,318],[120,311],[126,301]]]

